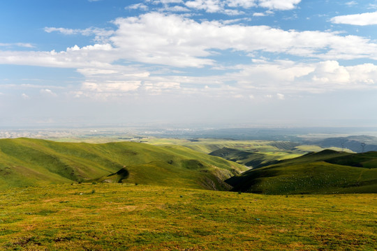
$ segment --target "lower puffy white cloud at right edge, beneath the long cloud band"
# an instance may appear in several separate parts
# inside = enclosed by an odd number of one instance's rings
[[[208,77],[214,81],[236,82],[242,93],[323,93],[336,89],[376,89],[377,66],[365,63],[341,66],[337,61],[295,63],[272,61],[253,65],[239,65],[239,71]],[[283,96],[276,95],[281,99]]]

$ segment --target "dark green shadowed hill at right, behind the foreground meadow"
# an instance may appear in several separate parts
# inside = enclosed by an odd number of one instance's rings
[[[267,195],[376,193],[377,152],[308,153],[251,169],[226,182],[235,191]]]

